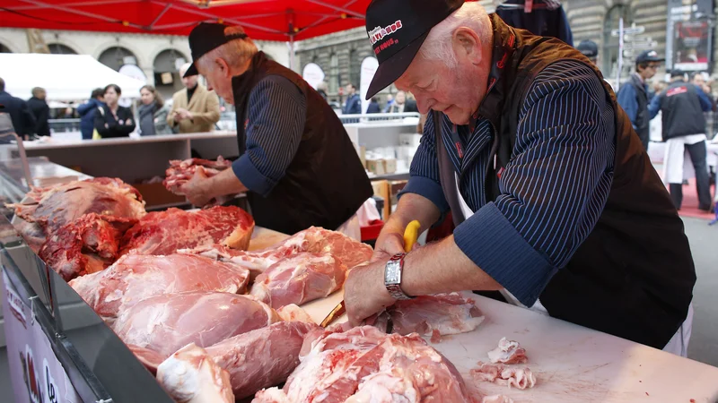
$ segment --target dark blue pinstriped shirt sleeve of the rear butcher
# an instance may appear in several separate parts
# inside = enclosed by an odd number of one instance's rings
[[[251,90],[248,108],[247,152],[232,163],[232,170],[250,191],[267,196],[299,149],[307,97],[292,81],[269,75]]]

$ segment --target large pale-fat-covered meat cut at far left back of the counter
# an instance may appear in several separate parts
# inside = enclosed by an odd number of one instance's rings
[[[144,217],[144,201],[137,190],[117,178],[97,177],[49,188],[34,188],[20,203],[8,205],[23,221],[15,226],[28,243],[39,249],[58,228],[96,213],[120,219]],[[30,224],[28,224],[30,223]],[[37,250],[37,249],[36,249]]]

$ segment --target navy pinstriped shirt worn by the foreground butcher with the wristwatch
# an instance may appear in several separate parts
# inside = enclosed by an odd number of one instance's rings
[[[516,296],[533,305],[548,281],[591,233],[609,197],[616,153],[615,112],[600,79],[585,64],[559,61],[538,73],[519,113],[500,195],[486,202],[485,173],[495,133],[480,118],[463,159],[447,147],[460,173],[460,193],[475,214],[454,230],[468,258]],[[452,124],[442,116],[442,139]],[[442,211],[433,118],[411,164],[404,193],[425,196]]]

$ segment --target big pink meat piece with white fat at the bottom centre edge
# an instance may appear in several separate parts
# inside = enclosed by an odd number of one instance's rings
[[[471,402],[460,373],[416,333],[371,326],[305,338],[311,350],[283,390],[260,390],[254,403]]]

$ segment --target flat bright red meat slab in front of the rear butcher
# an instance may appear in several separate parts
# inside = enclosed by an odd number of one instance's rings
[[[122,251],[140,254],[170,254],[178,249],[212,244],[247,249],[254,219],[239,207],[207,210],[170,209],[151,212],[122,238]]]

